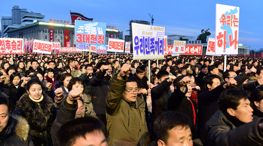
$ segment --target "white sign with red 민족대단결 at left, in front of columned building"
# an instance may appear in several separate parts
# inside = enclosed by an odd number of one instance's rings
[[[33,52],[34,53],[51,54],[52,45],[53,45],[52,42],[40,41],[40,40],[34,39]]]

